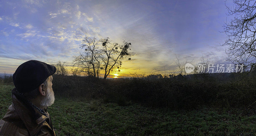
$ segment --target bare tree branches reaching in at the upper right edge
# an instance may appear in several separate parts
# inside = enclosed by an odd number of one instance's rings
[[[228,15],[234,16],[224,24],[228,39],[222,46],[228,46],[228,61],[244,64],[250,71],[256,64],[256,2],[255,0],[233,0],[235,6],[227,7]]]

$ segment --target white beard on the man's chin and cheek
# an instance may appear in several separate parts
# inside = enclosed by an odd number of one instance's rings
[[[41,107],[47,108],[48,106],[51,106],[55,100],[54,93],[52,90],[52,87],[47,87],[46,94],[44,96],[44,99],[41,101]]]

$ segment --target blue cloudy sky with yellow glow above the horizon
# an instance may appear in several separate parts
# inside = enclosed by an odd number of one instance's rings
[[[233,6],[230,0],[0,0],[0,73],[14,73],[28,60],[72,66],[85,36],[132,43],[119,76],[173,70],[176,56],[228,63],[220,46],[231,19],[225,3]]]

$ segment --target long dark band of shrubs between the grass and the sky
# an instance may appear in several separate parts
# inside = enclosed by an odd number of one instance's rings
[[[104,102],[116,102],[121,106],[132,101],[171,109],[196,108],[200,105],[248,107],[256,100],[253,89],[255,79],[220,82],[215,79],[198,80],[187,77],[103,80],[54,75],[53,90],[56,95],[70,98],[103,99]]]

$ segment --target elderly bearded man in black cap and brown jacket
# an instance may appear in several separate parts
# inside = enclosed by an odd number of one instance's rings
[[[13,74],[12,105],[0,120],[0,136],[53,135],[47,107],[54,102],[52,75],[56,68],[30,60]]]

